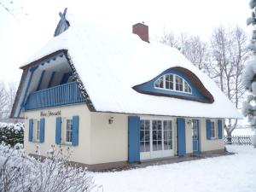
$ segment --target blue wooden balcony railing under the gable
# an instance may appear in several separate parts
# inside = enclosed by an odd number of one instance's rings
[[[49,108],[85,102],[76,82],[61,84],[46,90],[32,92],[26,101],[26,110]]]

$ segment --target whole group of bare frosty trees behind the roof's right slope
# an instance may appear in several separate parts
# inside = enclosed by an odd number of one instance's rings
[[[178,48],[189,61],[218,84],[236,108],[240,107],[245,92],[241,84],[241,72],[247,60],[247,38],[240,27],[227,30],[219,26],[212,32],[209,44],[199,36],[185,33],[175,35],[173,32],[165,33],[160,42]],[[227,120],[225,130],[228,136],[231,136],[236,124],[237,119]]]

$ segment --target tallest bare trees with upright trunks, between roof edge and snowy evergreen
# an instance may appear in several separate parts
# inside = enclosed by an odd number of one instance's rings
[[[240,27],[229,31],[219,26],[212,33],[212,67],[209,73],[226,96],[239,108],[245,89],[241,85],[241,73],[247,60],[246,35]],[[237,119],[228,119],[224,126],[230,137]]]

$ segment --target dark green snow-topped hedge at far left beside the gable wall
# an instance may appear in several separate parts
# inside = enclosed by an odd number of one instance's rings
[[[0,143],[4,142],[15,146],[16,143],[23,143],[24,124],[0,123]]]

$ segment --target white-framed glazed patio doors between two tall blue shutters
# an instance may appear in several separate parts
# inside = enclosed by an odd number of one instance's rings
[[[141,160],[173,156],[173,130],[172,119],[141,119]]]

